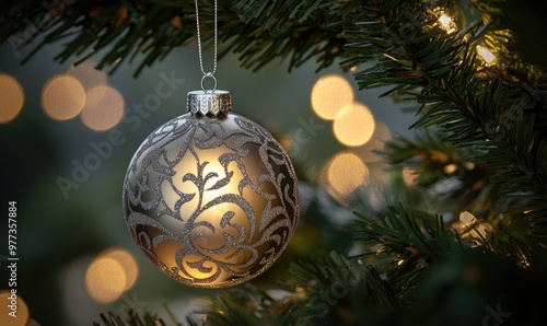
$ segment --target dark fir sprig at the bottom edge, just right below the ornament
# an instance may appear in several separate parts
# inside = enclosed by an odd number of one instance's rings
[[[331,252],[291,264],[292,280],[283,288],[301,293],[302,325],[351,325],[366,314],[393,314],[404,308],[398,293],[365,256]]]

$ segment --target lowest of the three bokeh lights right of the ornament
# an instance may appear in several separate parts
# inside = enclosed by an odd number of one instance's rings
[[[326,165],[325,178],[328,194],[339,202],[369,181],[369,167],[356,154],[342,152]]]

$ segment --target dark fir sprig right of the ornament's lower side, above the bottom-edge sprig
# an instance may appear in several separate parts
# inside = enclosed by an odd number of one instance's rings
[[[412,291],[429,265],[466,249],[442,217],[410,212],[400,203],[389,207],[385,217],[363,217],[357,212],[356,216],[359,219],[351,228],[356,241],[377,248],[369,264],[386,275],[401,303],[411,302]]]

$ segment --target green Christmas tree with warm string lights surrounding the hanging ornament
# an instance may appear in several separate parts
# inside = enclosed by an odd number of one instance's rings
[[[335,66],[359,90],[381,88],[404,103],[416,132],[379,151],[387,182],[350,196],[330,189],[319,200],[325,190],[296,164],[315,197],[295,244],[256,281],[194,292],[206,299],[185,321],[166,300],[156,310],[104,312],[94,325],[544,325],[543,304],[532,298],[546,290],[547,79],[517,50],[507,18],[520,5],[220,1],[220,65],[233,53],[253,71],[272,62],[291,73],[309,62],[318,72]],[[139,80],[196,40],[193,1],[0,8],[0,39],[24,51],[23,65],[62,43],[59,62],[94,58],[115,75],[130,61]],[[200,9],[211,45],[213,2]],[[351,223],[334,222],[348,214]]]

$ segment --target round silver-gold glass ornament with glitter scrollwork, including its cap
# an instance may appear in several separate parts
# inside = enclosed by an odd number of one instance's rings
[[[190,92],[188,110],[152,132],[131,160],[126,222],[171,278],[235,286],[287,247],[299,218],[296,175],[268,131],[230,113],[230,93]]]

